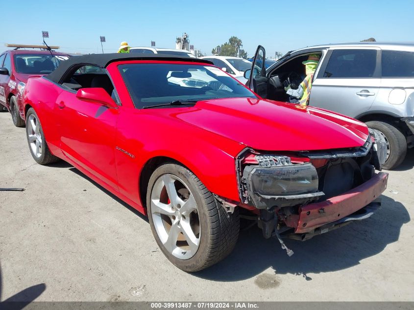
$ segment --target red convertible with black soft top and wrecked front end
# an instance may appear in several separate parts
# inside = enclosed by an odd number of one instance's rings
[[[364,123],[260,98],[209,61],[72,57],[24,89],[34,160],[63,159],[149,217],[185,271],[226,257],[240,216],[308,239],[372,215],[384,143]]]

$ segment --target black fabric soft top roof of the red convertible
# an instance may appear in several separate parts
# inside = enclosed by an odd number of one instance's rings
[[[167,61],[186,61],[186,62],[200,62],[212,65],[213,63],[199,58],[184,58],[175,55],[140,55],[129,53],[110,53],[110,54],[89,54],[82,56],[72,56],[68,60],[62,61],[59,67],[55,71],[46,75],[45,77],[50,81],[59,83],[65,73],[73,67],[79,67],[79,65],[97,65],[102,68],[106,68],[110,63],[121,60],[167,60]]]

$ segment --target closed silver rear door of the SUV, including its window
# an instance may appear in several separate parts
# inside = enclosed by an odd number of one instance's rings
[[[368,111],[381,79],[379,48],[333,48],[314,77],[309,105],[357,117]]]

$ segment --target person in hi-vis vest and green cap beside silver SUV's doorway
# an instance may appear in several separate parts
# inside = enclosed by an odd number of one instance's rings
[[[310,54],[308,60],[302,62],[305,65],[306,77],[300,83],[298,89],[292,89],[291,85],[285,87],[286,94],[293,97],[290,98],[290,102],[308,105],[309,95],[311,95],[312,78],[319,63],[319,58],[320,56],[318,54]]]

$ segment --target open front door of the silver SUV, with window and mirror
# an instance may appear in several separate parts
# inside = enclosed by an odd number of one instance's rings
[[[254,54],[252,69],[244,72],[244,77],[249,80],[249,88],[262,98],[268,97],[268,78],[266,77],[265,59],[265,48],[259,45]]]

